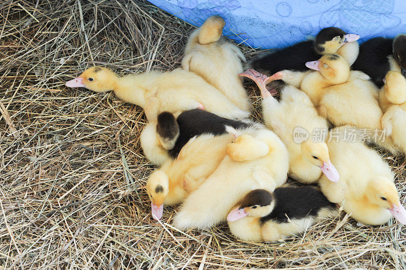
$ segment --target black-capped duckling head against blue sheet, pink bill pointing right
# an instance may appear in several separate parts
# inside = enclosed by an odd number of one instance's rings
[[[319,31],[313,46],[319,54],[335,53],[344,44],[358,39],[357,34],[346,33],[337,27],[327,27]]]

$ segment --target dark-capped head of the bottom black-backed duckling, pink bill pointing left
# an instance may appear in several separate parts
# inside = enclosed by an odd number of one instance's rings
[[[240,206],[228,214],[227,220],[236,221],[245,216],[264,217],[272,212],[274,207],[272,193],[264,189],[255,189],[245,195]]]

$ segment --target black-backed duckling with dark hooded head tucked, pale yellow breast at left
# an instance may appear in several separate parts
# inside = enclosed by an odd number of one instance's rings
[[[248,119],[226,119],[200,109],[182,112],[178,117],[170,112],[162,112],[157,121],[152,121],[144,127],[141,147],[152,163],[161,165],[167,159],[176,158],[191,138],[201,134],[225,134],[226,126],[237,130],[262,127],[261,124]]]

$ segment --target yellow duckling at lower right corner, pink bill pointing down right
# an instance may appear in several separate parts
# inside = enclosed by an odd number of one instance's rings
[[[339,134],[327,146],[340,182],[333,183],[322,176],[321,191],[329,201],[339,204],[364,224],[384,224],[392,216],[406,224],[406,210],[400,204],[389,165],[362,142],[346,142],[345,132],[351,128],[354,127],[342,126],[330,131],[330,134]]]

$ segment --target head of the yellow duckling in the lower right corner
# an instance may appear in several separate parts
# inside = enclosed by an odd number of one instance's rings
[[[406,224],[406,210],[400,204],[395,184],[384,176],[375,176],[368,183],[366,196],[370,203],[389,210],[400,223]]]

